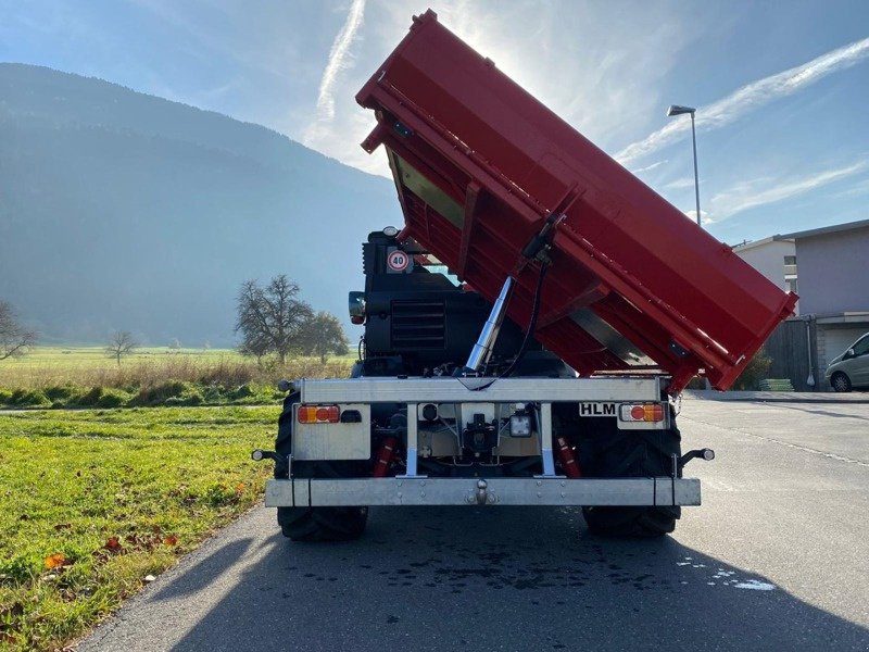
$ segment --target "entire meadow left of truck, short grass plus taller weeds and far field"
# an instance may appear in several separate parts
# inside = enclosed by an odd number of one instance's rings
[[[98,347],[0,362],[0,650],[63,648],[256,504],[275,381],[352,362],[141,349],[117,365]]]

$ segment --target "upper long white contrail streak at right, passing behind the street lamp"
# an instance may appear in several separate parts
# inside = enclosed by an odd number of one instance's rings
[[[859,63],[867,57],[869,57],[869,38],[827,52],[803,65],[753,82],[717,102],[697,109],[697,128],[710,130],[728,125],[755,109],[778,98],[793,95],[832,73]],[[679,140],[688,129],[687,120],[675,120],[643,140],[632,142],[615,158],[627,166]]]

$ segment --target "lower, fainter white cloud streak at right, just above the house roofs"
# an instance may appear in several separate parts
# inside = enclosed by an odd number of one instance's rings
[[[859,161],[845,167],[785,179],[772,187],[758,188],[760,185],[758,181],[740,184],[731,190],[720,192],[711,198],[711,220],[720,222],[748,209],[791,199],[809,190],[847,178],[867,168],[869,168],[869,161]]]

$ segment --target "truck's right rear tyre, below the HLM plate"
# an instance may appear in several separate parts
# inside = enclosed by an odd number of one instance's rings
[[[681,436],[675,421],[669,430],[618,430],[615,427],[606,430],[587,438],[584,451],[580,446],[583,475],[599,478],[671,475],[672,455],[681,454]],[[589,530],[603,537],[660,537],[676,529],[681,513],[679,506],[582,507]]]

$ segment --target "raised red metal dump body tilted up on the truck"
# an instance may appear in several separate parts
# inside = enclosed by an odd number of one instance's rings
[[[727,389],[797,297],[784,293],[440,25],[428,11],[356,96],[378,125],[412,237],[527,324],[522,248],[551,216],[536,337],[581,375],[659,367]]]

